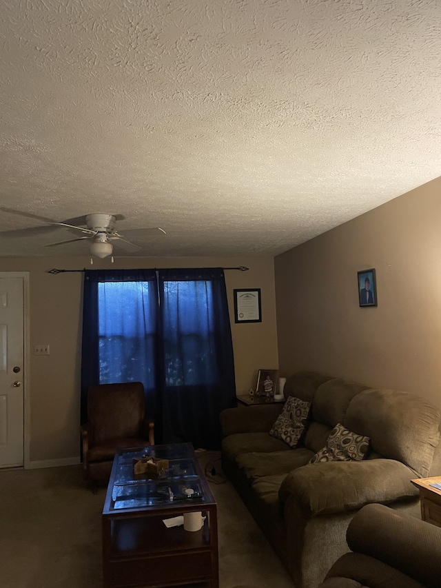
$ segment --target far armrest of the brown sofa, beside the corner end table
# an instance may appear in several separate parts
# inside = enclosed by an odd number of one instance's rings
[[[220,413],[223,436],[268,433],[282,409],[283,403],[227,408]]]

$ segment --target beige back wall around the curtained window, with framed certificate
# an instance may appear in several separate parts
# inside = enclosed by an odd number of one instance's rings
[[[113,267],[236,267],[225,272],[229,299],[237,392],[253,384],[256,369],[277,367],[274,261],[251,258],[115,258]],[[30,272],[30,461],[61,463],[79,458],[79,389],[81,367],[81,273],[48,274],[52,267],[90,267],[90,258],[0,258],[0,272]],[[99,260],[91,269],[110,267]],[[261,288],[262,323],[234,323],[234,288]],[[49,356],[34,356],[34,345],[50,345]],[[32,467],[32,463],[31,463]]]

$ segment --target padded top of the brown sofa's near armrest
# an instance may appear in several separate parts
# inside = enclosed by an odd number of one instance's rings
[[[369,503],[392,503],[418,496],[409,467],[392,459],[329,461],[304,465],[280,485],[282,502],[290,496],[310,515],[357,510]]]

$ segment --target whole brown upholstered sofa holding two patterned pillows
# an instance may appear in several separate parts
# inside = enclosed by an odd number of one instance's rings
[[[440,413],[407,392],[314,372],[288,378],[284,394],[311,402],[298,446],[269,434],[283,405],[227,409],[220,415],[223,470],[296,587],[316,588],[348,551],[347,527],[363,506],[420,516],[410,480],[441,473]],[[367,458],[308,464],[338,423],[370,438]]]

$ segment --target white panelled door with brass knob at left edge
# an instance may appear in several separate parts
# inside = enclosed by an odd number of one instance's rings
[[[0,467],[23,465],[23,278],[0,276]]]

